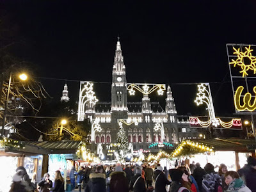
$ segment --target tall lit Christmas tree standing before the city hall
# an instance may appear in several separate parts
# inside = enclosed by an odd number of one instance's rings
[[[121,144],[117,147],[119,158],[124,159],[125,154],[128,153],[128,138],[125,135],[125,131],[122,126],[120,126],[120,130],[117,133],[117,142]]]

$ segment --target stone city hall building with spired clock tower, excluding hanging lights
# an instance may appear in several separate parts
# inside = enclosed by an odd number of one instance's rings
[[[199,133],[189,128],[188,116],[178,116],[170,86],[166,89],[165,110],[159,102],[150,102],[150,95],[143,95],[141,102],[127,102],[127,81],[125,74],[124,56],[120,41],[116,44],[115,59],[112,72],[111,102],[86,104],[83,118],[98,119],[102,131],[95,132],[95,143],[102,143],[107,154],[110,143],[116,143],[119,130],[118,119],[136,120],[138,125],[125,125],[129,143],[134,150],[143,149],[157,152],[158,147],[148,148],[151,143],[161,141],[160,131],[154,131],[157,120],[164,126],[164,141],[179,143],[184,138],[198,138]],[[91,149],[97,150],[92,143]],[[172,148],[166,147],[164,148]],[[109,159],[108,156],[106,158]],[[111,157],[110,157],[111,159]]]

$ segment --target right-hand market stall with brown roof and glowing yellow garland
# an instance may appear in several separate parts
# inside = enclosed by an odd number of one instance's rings
[[[239,138],[184,140],[175,148],[172,157],[179,157],[180,162],[188,159],[187,164],[195,161],[202,167],[212,163],[216,169],[224,163],[228,170],[238,170],[246,164],[248,156],[255,156],[255,150],[250,148],[254,142]]]

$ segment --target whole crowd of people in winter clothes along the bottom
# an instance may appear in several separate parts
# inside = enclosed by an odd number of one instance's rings
[[[225,164],[220,164],[218,172],[215,172],[216,167],[211,163],[201,168],[195,162],[170,170],[161,164],[151,166],[147,163],[141,166],[120,163],[86,166],[77,171],[73,166],[69,177],[72,189],[77,187],[79,192],[82,189],[84,192],[256,192],[256,159],[250,156],[247,162],[237,172],[228,171]],[[25,168],[20,166],[13,175],[10,192],[64,192],[64,179],[60,171],[55,172],[54,185],[49,176],[45,173],[42,180],[35,184],[29,179]]]

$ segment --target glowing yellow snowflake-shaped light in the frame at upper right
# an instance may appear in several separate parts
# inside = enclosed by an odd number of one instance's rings
[[[236,65],[241,67],[240,73],[243,73],[243,77],[248,76],[248,70],[252,70],[253,74],[256,74],[256,57],[252,56],[253,49],[251,49],[251,45],[249,45],[249,47],[245,47],[246,51],[244,52],[241,52],[240,48],[236,49],[233,47],[233,49],[235,51],[234,54],[237,55],[237,59],[232,59],[232,62],[229,64],[234,65],[234,67],[236,67]],[[250,60],[250,64],[244,63],[244,58],[248,58]]]

